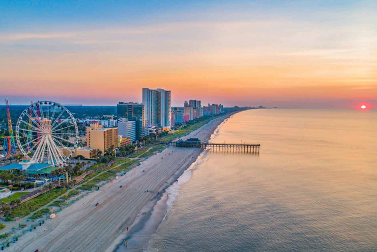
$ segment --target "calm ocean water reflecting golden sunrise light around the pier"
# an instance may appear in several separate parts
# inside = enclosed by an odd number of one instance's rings
[[[211,141],[261,150],[203,153],[147,251],[377,251],[375,111],[248,110]]]

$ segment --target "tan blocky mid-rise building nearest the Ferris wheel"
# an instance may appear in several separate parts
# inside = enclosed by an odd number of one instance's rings
[[[93,121],[86,127],[86,147],[95,147],[102,153],[118,146],[118,128],[103,128]]]

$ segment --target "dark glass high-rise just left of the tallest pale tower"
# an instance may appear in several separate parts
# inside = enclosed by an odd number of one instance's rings
[[[137,102],[119,102],[116,105],[118,118],[126,118],[127,121],[135,121],[136,139],[148,135],[148,123],[145,117],[145,105]],[[133,140],[132,140],[133,141]]]

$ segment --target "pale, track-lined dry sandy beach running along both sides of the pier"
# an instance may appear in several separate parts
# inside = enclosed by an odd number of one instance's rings
[[[201,141],[208,141],[216,127],[230,115],[216,118],[182,139],[199,138]],[[113,251],[124,238],[142,228],[145,222],[143,215],[147,217],[150,214],[161,198],[161,192],[173,184],[201,152],[198,148],[166,148],[120,179],[105,184],[99,191],[91,192],[66,207],[57,213],[56,218],[46,221],[33,232],[26,233],[15,246],[7,250]],[[96,203],[99,206],[96,207]],[[127,227],[130,227],[129,231]]]

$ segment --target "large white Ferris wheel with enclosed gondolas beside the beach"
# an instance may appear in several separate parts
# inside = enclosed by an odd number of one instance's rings
[[[63,167],[77,148],[76,120],[57,102],[35,102],[18,118],[16,141],[31,162]]]

